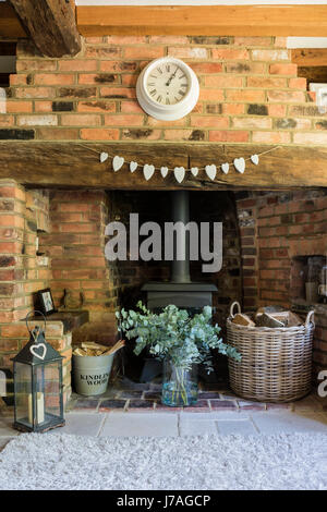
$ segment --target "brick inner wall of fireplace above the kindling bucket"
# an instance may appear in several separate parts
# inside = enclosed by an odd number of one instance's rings
[[[89,322],[73,331],[73,342],[112,344],[118,276],[105,258],[105,227],[108,197],[102,191],[56,191],[50,194],[50,233],[41,237],[41,249],[50,259],[49,285],[57,307],[64,290],[74,301],[83,295]]]

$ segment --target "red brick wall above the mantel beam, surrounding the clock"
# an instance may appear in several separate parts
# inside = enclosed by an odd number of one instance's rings
[[[201,83],[194,111],[174,122],[147,117],[135,99],[141,70],[167,54]],[[283,37],[90,37],[60,60],[23,40],[0,138],[325,145],[325,117],[290,59]]]

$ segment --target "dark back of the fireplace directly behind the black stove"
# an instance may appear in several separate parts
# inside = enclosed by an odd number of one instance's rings
[[[187,259],[128,259],[117,261],[116,271],[120,281],[119,303],[122,307],[135,308],[137,301],[142,300],[153,309],[175,304],[196,313],[204,305],[211,305],[214,321],[222,327],[223,333],[228,307],[242,293],[241,244],[234,195],[230,192],[114,191],[109,192],[108,197],[111,205],[110,219],[128,227],[132,212],[140,214],[140,224],[157,222],[162,234],[165,222],[194,221],[197,225],[202,222],[210,225],[214,222],[222,223],[222,267],[218,272],[203,272],[202,260]],[[187,236],[186,241],[189,242]],[[164,245],[165,240],[162,247]],[[210,251],[213,249],[211,245]],[[146,354],[144,357],[146,358]],[[226,359],[217,356],[215,365],[216,374],[226,380]],[[124,370],[133,380],[146,379],[153,375],[152,371],[144,374],[144,358],[133,354],[132,344],[125,350]]]

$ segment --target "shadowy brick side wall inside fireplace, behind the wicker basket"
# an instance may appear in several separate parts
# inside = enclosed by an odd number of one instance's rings
[[[246,197],[244,197],[246,195]],[[243,306],[295,307],[296,256],[327,257],[327,192],[250,192],[237,200],[243,260]],[[315,373],[327,365],[327,310],[315,306]]]

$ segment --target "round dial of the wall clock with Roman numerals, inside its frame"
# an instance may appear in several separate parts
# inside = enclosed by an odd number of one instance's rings
[[[190,89],[185,70],[174,61],[158,62],[148,73],[146,92],[160,105],[177,105]]]

